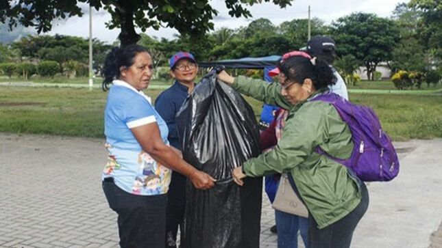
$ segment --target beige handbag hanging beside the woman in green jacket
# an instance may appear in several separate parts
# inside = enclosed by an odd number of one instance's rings
[[[288,181],[288,175],[282,174],[280,184],[276,191],[275,200],[272,204],[273,208],[300,217],[308,217],[306,205],[299,199],[295,191]]]

